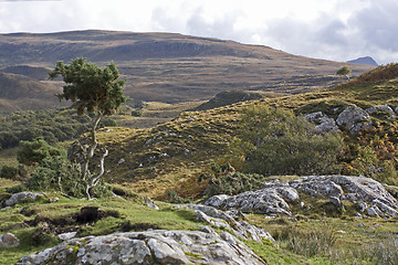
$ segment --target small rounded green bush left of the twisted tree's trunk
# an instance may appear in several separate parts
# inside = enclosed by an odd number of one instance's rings
[[[51,147],[42,137],[39,137],[33,141],[21,141],[17,159],[20,163],[32,166],[39,165],[46,157],[61,155],[61,149]]]

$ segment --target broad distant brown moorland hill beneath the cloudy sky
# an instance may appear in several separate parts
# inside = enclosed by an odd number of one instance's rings
[[[164,103],[210,99],[223,91],[296,94],[331,87],[344,82],[335,72],[345,64],[171,33],[74,31],[0,38],[0,72],[4,73],[42,80],[43,71],[57,61],[66,63],[78,56],[100,65],[114,61],[127,81],[127,96]],[[371,68],[349,67],[353,75]]]

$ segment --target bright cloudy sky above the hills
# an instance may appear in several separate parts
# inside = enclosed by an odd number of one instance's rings
[[[397,0],[0,0],[0,33],[85,29],[176,32],[341,62],[398,62]]]

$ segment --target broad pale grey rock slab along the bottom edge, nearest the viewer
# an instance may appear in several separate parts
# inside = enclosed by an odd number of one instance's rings
[[[266,264],[228,232],[166,231],[115,233],[73,239],[18,264]]]

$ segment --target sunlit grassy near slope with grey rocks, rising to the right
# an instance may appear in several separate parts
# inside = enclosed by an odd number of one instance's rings
[[[0,178],[0,232],[13,233],[20,244],[0,247],[0,258],[4,264],[14,264],[22,256],[21,264],[139,258],[138,264],[214,264],[217,258],[237,265],[395,264],[397,91],[398,64],[389,64],[333,88],[216,107],[219,95],[209,102],[211,109],[186,112],[153,128],[102,128],[98,140],[109,149],[104,177],[114,195],[88,201],[57,189],[45,190],[45,194],[18,193],[23,190],[21,182]],[[245,94],[227,93],[221,98],[241,96]],[[240,174],[245,160],[233,142],[241,137],[243,110],[249,107],[291,109],[293,117],[307,117],[316,126],[336,121],[346,147],[341,153],[341,172]],[[18,115],[12,117],[18,119]],[[343,120],[347,116],[356,117],[355,123],[348,126],[348,119]],[[255,131],[259,120],[256,116],[254,128],[249,129]],[[353,132],[354,127],[359,130]],[[385,167],[388,165],[392,167]],[[365,170],[364,176],[359,170]],[[221,182],[226,179],[229,181]],[[247,183],[241,187],[245,192],[228,193],[226,189],[227,193],[207,197],[214,184],[228,188],[241,181]]]

